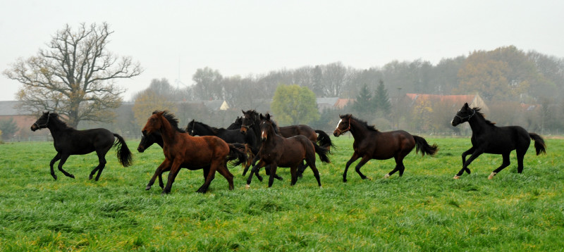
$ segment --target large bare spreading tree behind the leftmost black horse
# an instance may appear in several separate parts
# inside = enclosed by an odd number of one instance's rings
[[[56,111],[76,127],[81,120],[113,120],[111,109],[121,105],[121,89],[115,83],[142,73],[139,63],[107,51],[107,23],[69,25],[51,37],[48,49],[37,56],[18,59],[4,75],[23,87],[17,93],[26,111]]]

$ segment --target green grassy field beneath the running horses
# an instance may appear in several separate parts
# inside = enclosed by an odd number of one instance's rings
[[[87,179],[94,154],[71,156],[71,179],[49,175],[51,143],[0,145],[0,251],[562,251],[564,248],[564,140],[548,139],[547,155],[525,156],[487,176],[501,156],[483,155],[471,175],[452,179],[470,139],[432,139],[434,157],[405,160],[403,177],[382,177],[393,160],[372,160],[342,182],[353,139],[340,137],[331,164],[321,164],[322,189],[311,170],[295,187],[290,172],[245,189],[242,169],[231,168],[235,190],[217,174],[207,194],[195,190],[202,172],[180,171],[169,195],[145,185],[163,159],[159,146],[135,151],[130,168],[115,151],[99,182]],[[135,150],[136,141],[128,141]],[[264,174],[264,171],[261,172]]]

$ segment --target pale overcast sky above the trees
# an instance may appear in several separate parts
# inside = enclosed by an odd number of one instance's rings
[[[224,77],[341,62],[467,56],[517,46],[564,57],[564,1],[11,1],[0,0],[0,72],[47,49],[65,25],[106,22],[107,49],[144,72],[118,80],[123,99],[166,78],[192,84],[198,68]],[[178,80],[178,81],[177,81]],[[20,83],[0,75],[0,101]]]

